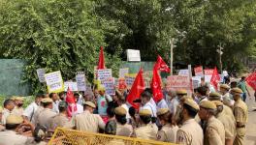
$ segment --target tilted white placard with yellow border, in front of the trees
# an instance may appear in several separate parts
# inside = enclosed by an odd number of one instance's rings
[[[64,91],[64,83],[60,71],[46,73],[45,78],[48,85],[48,93],[59,93]]]

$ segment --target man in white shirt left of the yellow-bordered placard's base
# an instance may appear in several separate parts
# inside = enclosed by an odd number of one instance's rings
[[[40,105],[40,102],[42,99],[45,98],[45,95],[43,94],[38,94],[35,98],[35,102],[31,102],[27,107],[26,109],[23,111],[23,117],[32,122],[33,124],[35,123],[35,120],[34,120],[34,115],[35,115],[35,112],[37,111],[39,105]]]

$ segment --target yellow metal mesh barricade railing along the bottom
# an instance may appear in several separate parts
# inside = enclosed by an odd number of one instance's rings
[[[48,145],[175,145],[161,141],[57,128]]]

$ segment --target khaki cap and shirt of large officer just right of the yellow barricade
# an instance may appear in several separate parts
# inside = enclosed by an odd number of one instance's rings
[[[184,104],[199,110],[199,106],[193,100],[185,100]],[[204,134],[200,125],[191,118],[183,122],[176,132],[176,143],[185,145],[203,145]]]

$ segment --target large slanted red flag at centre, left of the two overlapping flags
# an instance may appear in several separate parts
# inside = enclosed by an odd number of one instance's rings
[[[140,104],[135,103],[133,101],[140,99],[140,96],[143,93],[143,91],[144,91],[144,76],[143,76],[143,70],[141,69],[134,80],[134,83],[130,90],[129,95],[127,96],[127,102],[129,102],[136,109],[139,109]]]

